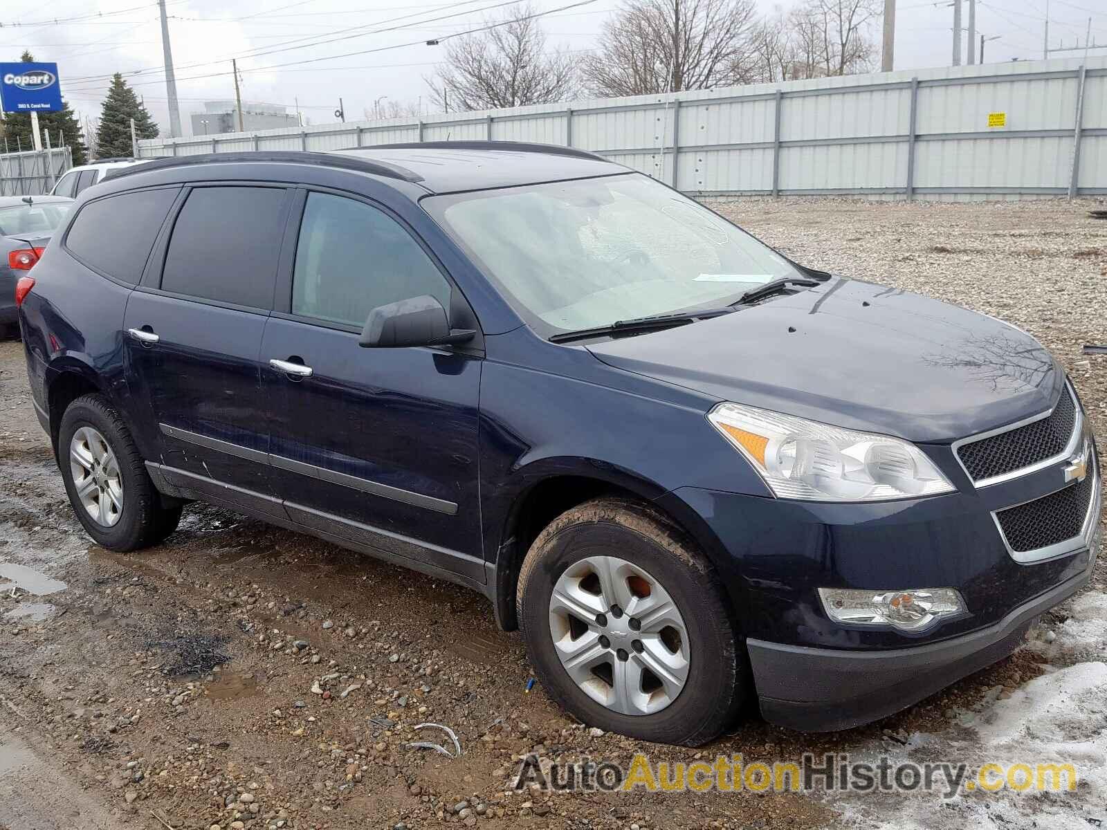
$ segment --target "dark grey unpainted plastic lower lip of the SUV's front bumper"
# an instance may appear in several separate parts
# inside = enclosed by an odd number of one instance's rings
[[[762,714],[779,726],[831,732],[907,708],[1011,654],[1034,618],[1083,588],[1090,570],[995,625],[938,643],[857,652],[747,640]]]

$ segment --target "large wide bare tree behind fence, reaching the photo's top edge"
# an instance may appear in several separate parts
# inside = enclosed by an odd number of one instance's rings
[[[598,95],[743,83],[753,71],[754,0],[628,0],[583,61]]]

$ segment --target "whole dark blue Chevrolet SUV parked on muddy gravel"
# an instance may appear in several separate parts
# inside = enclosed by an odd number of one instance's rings
[[[557,147],[154,162],[19,287],[113,550],[203,500],[483,592],[586,723],[839,729],[1008,654],[1096,557],[1096,450],[999,320],[797,264]]]

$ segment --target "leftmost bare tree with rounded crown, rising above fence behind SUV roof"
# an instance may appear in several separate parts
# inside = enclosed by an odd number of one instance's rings
[[[446,63],[426,79],[432,101],[446,110],[495,110],[548,104],[577,94],[577,66],[565,50],[546,51],[530,7],[494,28],[448,42]]]

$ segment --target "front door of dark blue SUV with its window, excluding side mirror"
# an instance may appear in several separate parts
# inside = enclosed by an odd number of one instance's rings
[[[456,291],[408,229],[368,201],[307,194],[289,313],[266,324],[269,460],[293,520],[484,582],[479,357],[363,349],[377,305]],[[281,298],[278,298],[280,307]]]

